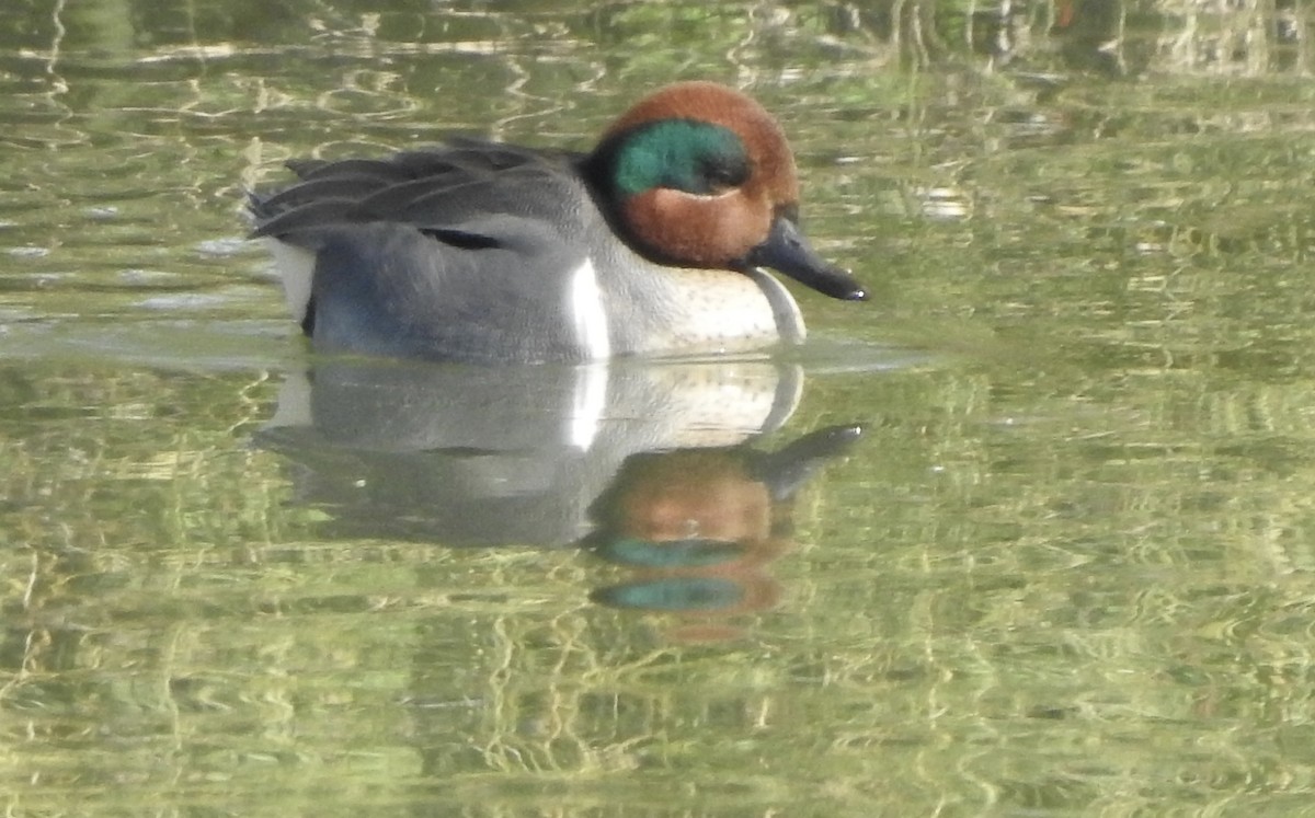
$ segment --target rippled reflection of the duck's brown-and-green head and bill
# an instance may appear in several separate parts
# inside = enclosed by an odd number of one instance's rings
[[[734,635],[735,614],[772,606],[778,584],[764,567],[793,543],[794,493],[860,435],[834,426],[775,452],[747,446],[647,452],[629,458],[590,509],[584,543],[634,571],[596,590],[614,608],[681,614],[672,635]]]

